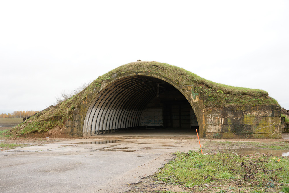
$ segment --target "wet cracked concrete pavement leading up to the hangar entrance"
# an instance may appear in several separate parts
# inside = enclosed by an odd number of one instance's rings
[[[192,130],[153,130],[1,151],[0,192],[125,192],[174,152],[198,148]]]

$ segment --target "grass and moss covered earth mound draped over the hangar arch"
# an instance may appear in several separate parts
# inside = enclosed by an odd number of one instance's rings
[[[148,71],[157,73],[161,76],[169,78],[180,85],[193,85],[194,92],[200,93],[200,98],[207,107],[222,106],[257,106],[277,104],[277,101],[268,96],[268,93],[259,89],[248,89],[242,87],[232,87],[224,84],[218,84],[196,74],[186,71],[180,67],[168,65],[159,62],[133,62],[122,65],[108,73],[99,76],[86,89],[74,95],[70,99],[56,105],[51,106],[34,117],[31,117],[25,123],[25,127],[19,131],[15,129],[14,133],[26,134],[30,132],[45,132],[51,128],[65,126],[67,120],[72,120],[73,109],[80,107],[81,102],[86,96],[98,90],[101,81],[110,79],[112,73],[128,73]]]

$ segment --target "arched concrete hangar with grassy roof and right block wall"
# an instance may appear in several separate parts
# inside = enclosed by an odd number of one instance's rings
[[[280,106],[266,91],[217,84],[168,64],[129,63],[89,87],[66,125],[76,136],[198,128],[208,138],[281,137]]]

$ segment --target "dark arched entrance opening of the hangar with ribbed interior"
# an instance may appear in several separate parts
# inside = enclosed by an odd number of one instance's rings
[[[196,115],[179,90],[158,78],[128,76],[99,91],[86,113],[83,135],[193,128],[198,128]]]

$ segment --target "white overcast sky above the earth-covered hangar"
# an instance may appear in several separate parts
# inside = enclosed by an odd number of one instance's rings
[[[159,61],[289,109],[288,1],[0,1],[0,113]]]

